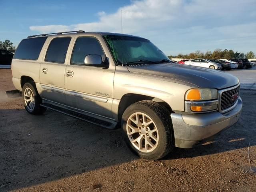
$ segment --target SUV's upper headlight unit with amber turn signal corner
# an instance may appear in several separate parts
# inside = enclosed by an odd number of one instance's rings
[[[218,91],[211,88],[190,89],[185,94],[185,100],[204,101],[218,98]]]

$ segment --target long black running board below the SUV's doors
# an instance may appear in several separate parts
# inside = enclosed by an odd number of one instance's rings
[[[71,117],[74,117],[74,118],[78,118],[80,120],[87,121],[89,123],[92,123],[92,124],[95,124],[95,125],[107,128],[107,129],[115,129],[116,128],[117,122],[115,122],[115,121],[100,120],[98,118],[88,116],[86,114],[82,114],[82,113],[79,113],[79,112],[75,112],[73,110],[64,109],[62,107],[55,106],[55,105],[52,105],[52,104],[49,104],[49,103],[43,103],[43,104],[40,104],[40,106],[51,109],[51,110],[54,110],[54,111],[57,111],[57,112],[60,112],[62,114],[65,114],[65,115],[68,115],[68,116],[71,116]]]

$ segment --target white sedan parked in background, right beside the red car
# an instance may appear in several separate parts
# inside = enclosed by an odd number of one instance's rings
[[[218,69],[218,70],[222,69],[221,64],[211,62],[208,59],[192,59],[192,60],[186,61],[184,64],[197,66],[197,67],[210,68],[210,69]]]

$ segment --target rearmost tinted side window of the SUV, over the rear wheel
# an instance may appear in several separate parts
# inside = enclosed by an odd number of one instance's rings
[[[47,37],[28,38],[20,42],[14,59],[37,60]]]

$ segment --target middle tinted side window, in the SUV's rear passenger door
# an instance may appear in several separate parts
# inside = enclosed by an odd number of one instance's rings
[[[64,63],[71,37],[54,38],[48,47],[45,61]]]

